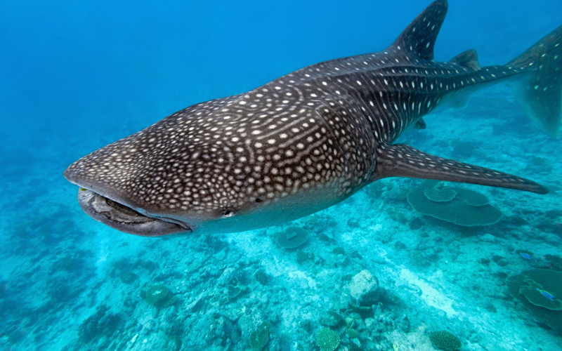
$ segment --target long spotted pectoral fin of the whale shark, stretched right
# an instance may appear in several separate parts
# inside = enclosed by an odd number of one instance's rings
[[[371,180],[388,177],[410,177],[448,180],[451,182],[507,187],[510,189],[547,194],[547,187],[532,180],[473,166],[421,152],[410,145],[382,145],[377,150],[377,167]]]

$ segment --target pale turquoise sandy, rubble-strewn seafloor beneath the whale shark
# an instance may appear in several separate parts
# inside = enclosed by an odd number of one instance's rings
[[[263,350],[320,350],[317,335],[330,328],[339,350],[433,350],[435,331],[462,350],[560,350],[562,312],[551,311],[553,326],[507,285],[533,268],[562,270],[560,141],[513,100],[504,86],[488,88],[400,140],[549,186],[537,195],[459,185],[502,212],[474,227],[414,211],[406,197],[423,181],[386,179],[283,227],[135,237],[82,213],[62,178],[61,160],[89,152],[95,143],[83,140],[95,129],[44,145],[6,137],[26,146],[0,156],[10,194],[0,198],[0,349],[256,350],[267,341]],[[274,238],[291,226],[308,240],[284,249]]]

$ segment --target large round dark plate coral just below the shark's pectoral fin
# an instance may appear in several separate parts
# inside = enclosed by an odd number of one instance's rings
[[[421,214],[464,227],[492,225],[502,218],[488,197],[461,187],[417,187],[407,194],[407,201]]]

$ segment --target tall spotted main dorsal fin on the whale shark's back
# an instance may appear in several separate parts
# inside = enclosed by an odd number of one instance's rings
[[[389,49],[405,51],[409,57],[433,60],[433,46],[446,14],[447,1],[433,1],[404,29]]]

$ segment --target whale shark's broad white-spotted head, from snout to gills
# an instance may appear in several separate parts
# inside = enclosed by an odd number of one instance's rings
[[[272,118],[260,112],[268,89],[188,107],[82,157],[64,176],[91,217],[144,236],[265,227],[355,191],[315,108],[283,98],[267,107]]]

